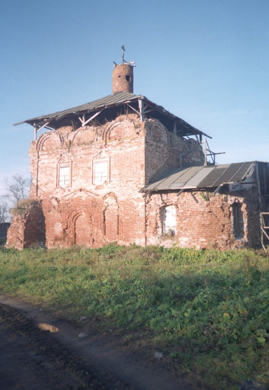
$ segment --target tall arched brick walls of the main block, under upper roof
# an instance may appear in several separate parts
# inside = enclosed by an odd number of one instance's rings
[[[30,197],[42,199],[46,245],[145,245],[145,200],[139,190],[158,172],[180,166],[182,150],[189,160],[196,157],[197,151],[189,149],[189,140],[171,135],[156,119],[141,122],[135,114],[41,135],[29,149]],[[108,170],[105,182],[96,184],[99,163]],[[64,185],[61,168],[70,172]]]

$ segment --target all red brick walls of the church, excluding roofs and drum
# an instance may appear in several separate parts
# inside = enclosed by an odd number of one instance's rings
[[[42,200],[48,247],[99,247],[115,241],[224,249],[256,242],[257,204],[252,191],[233,196],[151,193],[143,198],[140,189],[157,174],[204,158],[198,142],[174,136],[155,119],[142,123],[138,115],[130,114],[103,126],[76,131],[61,127],[32,142],[29,154],[30,197]],[[105,162],[106,177],[96,184],[95,172]],[[63,187],[61,167],[70,167],[69,183]],[[233,235],[234,202],[242,204],[245,235],[241,240]],[[175,237],[162,232],[162,210],[168,205],[176,207]],[[21,248],[37,241],[38,230],[44,233],[40,213],[36,210],[31,218],[14,219],[8,245]]]

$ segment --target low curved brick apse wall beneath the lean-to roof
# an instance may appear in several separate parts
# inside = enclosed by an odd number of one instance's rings
[[[151,193],[147,196],[147,244],[196,248],[238,248],[259,246],[258,203],[255,190],[232,194],[186,191]],[[240,205],[243,234],[235,237],[233,207]],[[165,235],[163,210],[176,209],[175,235]]]

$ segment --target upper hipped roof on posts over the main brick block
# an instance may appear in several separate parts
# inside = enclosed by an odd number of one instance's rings
[[[211,138],[207,134],[185,122],[183,119],[171,114],[162,106],[151,102],[145,96],[136,95],[130,92],[114,92],[105,98],[76,106],[68,110],[56,111],[52,114],[26,119],[22,122],[15,123],[15,125],[28,123],[37,126],[37,128],[44,126],[50,130],[61,126],[74,126],[74,124],[77,125],[77,127],[80,127],[81,122],[78,117],[79,115],[84,114],[86,119],[88,119],[90,116],[98,113],[99,111],[100,114],[96,117],[96,119],[100,124],[102,124],[106,123],[108,120],[115,119],[119,114],[124,114],[126,110],[129,109],[130,105],[132,106],[132,109],[139,112],[139,100],[144,100],[145,106],[150,108],[150,110],[148,110],[149,114],[145,113],[145,118],[149,115],[148,118],[158,119],[167,129],[169,129],[169,131],[174,131],[176,123],[177,132],[182,137],[196,134]],[[130,112],[133,111],[130,109]]]

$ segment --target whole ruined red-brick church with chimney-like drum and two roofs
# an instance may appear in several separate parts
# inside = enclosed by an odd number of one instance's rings
[[[208,163],[206,134],[133,93],[131,63],[115,64],[111,95],[25,122],[38,202],[13,218],[7,247],[260,245],[268,164]]]

